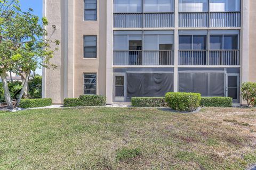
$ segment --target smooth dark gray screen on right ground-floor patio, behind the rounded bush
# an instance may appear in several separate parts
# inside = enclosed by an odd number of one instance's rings
[[[202,96],[224,96],[224,73],[179,73],[179,91]]]

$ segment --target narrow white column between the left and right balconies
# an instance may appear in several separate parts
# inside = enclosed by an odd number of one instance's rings
[[[178,49],[179,49],[179,0],[174,2],[174,92],[178,92]]]

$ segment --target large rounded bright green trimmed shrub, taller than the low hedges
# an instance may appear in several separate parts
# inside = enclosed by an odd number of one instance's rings
[[[165,95],[167,106],[176,111],[195,111],[201,101],[201,94],[187,92],[168,92]]]

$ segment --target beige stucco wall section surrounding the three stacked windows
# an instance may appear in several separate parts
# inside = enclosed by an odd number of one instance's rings
[[[83,73],[97,73],[97,94],[106,95],[106,1],[98,0],[97,21],[83,21],[83,1],[75,1],[75,90],[83,94]],[[97,58],[83,58],[83,36],[97,35]]]

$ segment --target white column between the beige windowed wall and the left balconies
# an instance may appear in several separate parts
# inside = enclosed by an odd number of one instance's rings
[[[107,0],[106,98],[113,102],[113,0]]]

